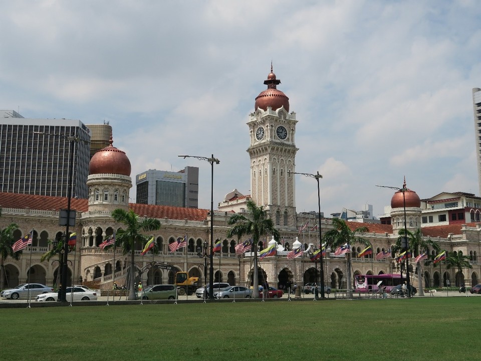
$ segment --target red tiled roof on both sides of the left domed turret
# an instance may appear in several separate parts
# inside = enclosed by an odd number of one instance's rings
[[[33,210],[60,210],[67,208],[66,197],[49,197],[49,196],[34,196],[18,193],[0,192],[0,207],[4,208],[30,208]],[[70,205],[72,210],[79,212],[87,212],[89,210],[88,200],[75,199],[71,200]],[[155,206],[130,203],[129,207],[140,217],[147,216],[150,218],[165,218],[173,220],[187,219],[189,221],[203,221],[207,219],[209,210],[169,207],[169,206]]]

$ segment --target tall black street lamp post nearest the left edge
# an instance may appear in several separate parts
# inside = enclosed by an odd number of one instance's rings
[[[73,170],[74,170],[74,151],[75,151],[75,142],[79,141],[80,138],[77,136],[65,135],[65,134],[56,134],[56,133],[43,133],[43,132],[34,132],[36,134],[43,134],[43,135],[53,135],[57,136],[61,139],[65,139],[69,141],[69,168],[68,168],[68,184],[67,184],[67,222],[65,225],[65,240],[64,240],[64,257],[62,262],[62,278],[60,280],[60,293],[59,293],[59,301],[60,302],[67,302],[67,263],[68,263],[68,254],[69,254],[69,242],[68,239],[70,237],[69,233],[69,226],[70,226],[70,213],[71,213],[71,201],[72,201],[72,178],[73,178]]]

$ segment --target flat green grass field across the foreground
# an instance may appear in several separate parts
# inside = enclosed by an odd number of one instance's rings
[[[15,360],[458,360],[479,297],[0,309]]]

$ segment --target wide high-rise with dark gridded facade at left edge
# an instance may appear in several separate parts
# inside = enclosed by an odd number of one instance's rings
[[[39,134],[44,133],[44,134]],[[87,198],[90,130],[80,120],[30,119],[0,110],[0,192],[67,197],[71,142],[72,196]]]

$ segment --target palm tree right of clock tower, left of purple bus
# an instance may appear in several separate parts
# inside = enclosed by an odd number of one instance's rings
[[[349,249],[351,249],[351,245],[354,243],[360,243],[366,247],[371,245],[371,242],[360,236],[368,232],[367,227],[361,226],[351,231],[346,221],[341,218],[334,218],[332,224],[334,229],[327,231],[324,235],[326,246],[329,246],[331,249],[336,249],[345,244],[349,245]],[[347,284],[349,295],[352,297],[351,252],[347,254]]]

